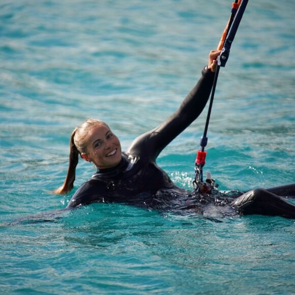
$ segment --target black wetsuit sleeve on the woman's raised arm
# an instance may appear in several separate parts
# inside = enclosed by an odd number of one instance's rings
[[[127,153],[155,161],[160,152],[184,131],[204,109],[213,85],[214,73],[206,67],[180,107],[157,128],[137,137]]]

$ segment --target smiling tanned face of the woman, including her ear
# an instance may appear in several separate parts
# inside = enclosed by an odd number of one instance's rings
[[[119,164],[122,150],[117,138],[104,124],[94,125],[87,134],[87,154],[82,154],[86,161],[93,162],[97,168],[111,168]]]

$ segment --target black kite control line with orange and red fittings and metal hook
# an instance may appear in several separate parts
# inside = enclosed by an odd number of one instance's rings
[[[220,67],[225,67],[225,64],[228,60],[232,41],[234,39],[235,33],[237,33],[239,24],[241,22],[241,19],[243,17],[247,4],[248,4],[248,0],[236,0],[234,3],[232,3],[231,15],[221,35],[221,39],[217,47],[217,49],[221,50],[221,52],[217,58],[217,68],[216,68],[216,72],[214,76],[214,82],[212,87],[212,93],[211,93],[204,133],[200,139],[201,150],[197,151],[196,160],[195,160],[195,179],[193,181],[195,194],[211,193],[212,189],[214,187],[217,187],[217,185],[215,184],[215,181],[211,178],[210,172],[207,172],[206,180],[205,182],[203,182],[203,166],[205,165],[205,158],[207,154],[207,152],[205,152],[205,146],[207,145],[207,142],[208,142],[207,132],[208,132],[208,126],[210,121],[210,115],[211,115],[211,110],[212,110],[212,105],[213,105],[213,100],[215,95],[219,69]]]

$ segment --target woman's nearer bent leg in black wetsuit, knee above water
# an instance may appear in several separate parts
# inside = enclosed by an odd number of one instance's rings
[[[295,218],[295,205],[269,190],[251,190],[235,199],[230,205],[245,215],[260,214]]]

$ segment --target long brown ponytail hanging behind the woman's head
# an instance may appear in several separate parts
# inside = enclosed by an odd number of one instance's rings
[[[79,152],[74,142],[74,136],[75,136],[76,130],[77,128],[72,132],[71,139],[70,139],[70,159],[69,159],[69,167],[68,167],[66,180],[61,187],[53,191],[54,194],[66,194],[70,192],[72,188],[74,187],[76,166],[79,160]]]

